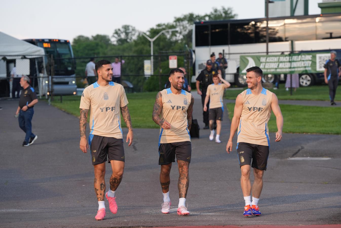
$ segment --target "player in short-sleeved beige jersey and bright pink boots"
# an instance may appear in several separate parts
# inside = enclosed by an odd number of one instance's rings
[[[80,142],[79,148],[87,153],[90,145],[92,165],[94,167],[94,188],[98,200],[98,212],[95,219],[105,216],[104,195],[109,202],[109,209],[117,213],[115,191],[121,183],[124,170],[123,132],[121,116],[128,127],[127,140],[133,142],[128,100],[122,85],[112,81],[113,68],[109,61],[100,60],[95,65],[98,81],[84,89],[80,99]],[[89,144],[86,140],[86,123],[90,109]],[[108,159],[107,159],[108,157]],[[111,165],[110,189],[105,194],[105,162]]]

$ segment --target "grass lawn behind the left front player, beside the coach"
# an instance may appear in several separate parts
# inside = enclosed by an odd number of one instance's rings
[[[128,107],[133,128],[160,127],[151,119],[156,94],[157,92],[127,93],[127,98],[129,101]],[[60,103],[60,96],[55,96],[54,101],[51,102],[51,104],[65,112],[79,117],[79,102],[80,96],[63,96],[63,103]],[[90,115],[88,115],[88,122],[89,118]],[[125,127],[123,119],[121,122],[122,127]]]

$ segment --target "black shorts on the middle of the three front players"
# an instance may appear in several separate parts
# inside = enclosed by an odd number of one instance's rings
[[[190,141],[160,143],[159,165],[167,165],[177,161],[191,162],[192,145]]]

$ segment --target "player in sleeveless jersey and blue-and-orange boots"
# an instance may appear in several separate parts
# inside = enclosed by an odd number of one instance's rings
[[[241,170],[240,185],[245,207],[244,216],[261,215],[258,200],[263,188],[263,174],[269,156],[269,128],[271,110],[276,116],[277,132],[275,142],[282,139],[283,116],[278,105],[277,96],[262,87],[263,71],[258,66],[246,70],[248,89],[236,98],[231,132],[226,145],[227,153],[232,151],[232,139],[238,130],[237,154]],[[251,165],[252,160],[252,165]],[[250,166],[251,165],[251,166]],[[254,182],[252,186],[250,170],[253,167]]]

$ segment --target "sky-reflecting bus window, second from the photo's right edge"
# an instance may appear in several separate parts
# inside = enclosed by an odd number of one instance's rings
[[[316,40],[315,18],[285,19],[285,41]]]

